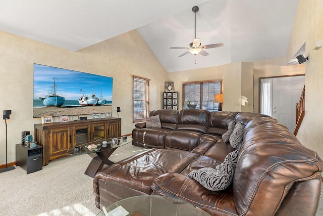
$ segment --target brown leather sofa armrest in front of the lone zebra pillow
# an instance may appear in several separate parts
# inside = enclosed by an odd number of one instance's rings
[[[210,191],[187,176],[167,173],[155,179],[151,189],[153,194],[183,200],[211,215],[238,215],[232,187],[223,191]]]

